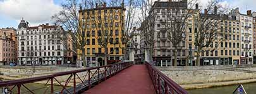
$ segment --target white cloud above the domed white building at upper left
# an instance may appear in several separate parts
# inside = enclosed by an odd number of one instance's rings
[[[50,22],[60,9],[53,0],[0,0],[0,14],[16,21],[24,18],[33,26]]]

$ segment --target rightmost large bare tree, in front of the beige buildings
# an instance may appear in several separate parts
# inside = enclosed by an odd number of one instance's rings
[[[220,11],[217,11],[219,8]],[[200,55],[202,50],[206,47],[212,46],[215,42],[217,45],[222,41],[222,35],[219,31],[221,23],[221,16],[223,16],[228,9],[221,6],[220,1],[211,0],[204,9],[204,13],[199,13],[193,16],[195,19],[195,46],[197,46],[197,61],[196,65],[200,66]],[[217,13],[218,12],[218,13]]]

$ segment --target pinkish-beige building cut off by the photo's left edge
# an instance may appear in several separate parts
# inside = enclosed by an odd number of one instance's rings
[[[17,47],[16,29],[0,29],[0,65],[16,63]]]

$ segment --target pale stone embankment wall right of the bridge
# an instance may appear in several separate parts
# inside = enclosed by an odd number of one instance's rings
[[[157,67],[186,90],[256,82],[252,66],[169,66]]]

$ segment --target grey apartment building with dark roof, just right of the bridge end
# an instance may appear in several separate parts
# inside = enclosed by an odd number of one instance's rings
[[[154,27],[154,52],[153,52],[153,60],[155,61],[155,65],[157,66],[172,66],[174,65],[174,53],[175,48],[171,41],[169,41],[168,33],[166,31],[166,24],[170,23],[168,19],[171,16],[176,15],[176,11],[178,11],[178,15],[186,13],[187,9],[187,1],[186,0],[178,0],[178,1],[155,1],[152,6],[152,12],[150,14],[154,14],[155,27]],[[175,23],[174,23],[175,24]],[[183,32],[183,35],[186,34],[186,31]],[[185,36],[182,38],[183,41],[179,44],[177,48],[177,65],[185,66],[186,65],[186,41]]]

